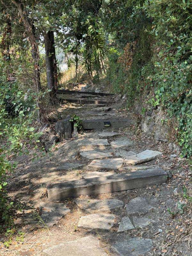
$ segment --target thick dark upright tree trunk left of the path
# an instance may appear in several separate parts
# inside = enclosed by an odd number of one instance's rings
[[[52,31],[44,33],[44,45],[46,56],[47,88],[50,91],[50,100],[54,103],[57,91],[57,63],[55,56],[54,34]]]

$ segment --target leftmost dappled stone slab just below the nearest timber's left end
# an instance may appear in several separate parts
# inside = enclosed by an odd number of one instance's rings
[[[63,203],[40,203],[40,209],[42,208],[41,218],[47,227],[57,225],[59,220],[70,212],[66,205]]]

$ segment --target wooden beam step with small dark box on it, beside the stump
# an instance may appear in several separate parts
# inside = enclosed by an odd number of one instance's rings
[[[104,126],[104,122],[109,122],[109,126]],[[128,118],[110,118],[110,119],[90,119],[83,120],[82,126],[84,130],[103,129],[103,128],[124,128],[132,124]]]

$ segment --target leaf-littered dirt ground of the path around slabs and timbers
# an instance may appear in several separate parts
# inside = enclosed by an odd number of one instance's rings
[[[0,244],[1,255],[43,256],[45,249],[90,235],[97,238],[99,247],[103,248],[104,253],[111,256],[119,255],[118,248],[123,245],[118,243],[132,238],[150,239],[152,244],[148,245],[150,248],[144,252],[145,255],[192,255],[190,249],[192,236],[191,204],[183,192],[183,187],[185,186],[189,191],[188,193],[190,193],[192,174],[186,160],[181,159],[178,155],[170,157],[173,153],[168,150],[168,142],[157,142],[140,133],[137,129],[136,118],[131,112],[126,111],[124,102],[116,102],[110,107],[111,111],[107,113],[91,113],[93,106],[81,106],[71,103],[63,104],[59,108],[63,117],[73,113],[82,119],[85,117],[86,119],[129,117],[132,120],[132,125],[128,128],[120,128],[117,131],[120,135],[108,139],[109,145],[96,147],[79,146],[79,142],[84,139],[98,139],[99,131],[87,131],[80,133],[78,138],[64,140],[54,146],[50,154],[41,156],[42,153],[37,152],[39,159],[34,160],[33,154],[36,152],[17,157],[16,160],[19,164],[10,179],[9,195],[21,203],[21,208],[25,208],[18,212],[17,218],[15,218],[18,233],[24,232],[24,240],[17,238],[18,241],[16,241],[16,237],[13,237],[10,247],[6,248],[3,245],[3,241],[6,238],[2,237],[2,243]],[[31,220],[35,217],[34,214],[39,212],[40,203],[48,202],[46,194],[46,186],[48,184],[78,180],[92,171],[88,166],[92,160],[82,158],[79,154],[80,152],[88,150],[96,150],[103,153],[112,152],[112,157],[115,158],[116,149],[111,147],[110,142],[116,139],[133,141],[132,145],[123,148],[125,151],[140,153],[146,149],[151,149],[162,152],[162,157],[143,163],[142,166],[162,167],[169,173],[170,178],[168,178],[167,183],[96,196],[80,196],[79,198],[82,201],[83,199],[88,201],[91,199],[118,199],[123,202],[123,207],[109,211],[110,214],[115,216],[113,227],[109,230],[78,227],[80,218],[88,214],[80,207],[77,207],[74,199],[70,198],[62,201],[62,203],[67,204],[70,212],[63,216],[57,225],[51,228],[39,227],[44,226],[41,219],[37,223],[31,223]],[[118,148],[118,150],[120,149]],[[60,170],[58,168],[66,162],[76,163],[77,161],[85,164],[84,167],[77,170]],[[123,168],[125,165],[123,164],[122,168],[118,170],[111,169],[110,172],[128,172]],[[177,189],[175,190],[175,188]],[[136,197],[146,199],[147,204],[152,206],[153,210],[143,212],[138,217],[148,218],[150,223],[143,228],[138,228],[135,225],[132,229],[117,232],[122,218],[128,217],[127,205],[130,204],[130,200]],[[169,210],[167,211],[167,209]],[[133,223],[132,218],[131,220]],[[37,225],[36,227],[34,227],[35,224]],[[113,248],[114,244],[117,244],[115,249]],[[128,245],[125,247],[127,248]],[[134,256],[141,255],[140,252],[142,252],[142,250],[138,252],[135,249],[130,250],[130,255]],[[121,253],[121,255],[125,255],[123,254],[125,252]],[[62,254],[55,254],[55,256],[57,255]]]

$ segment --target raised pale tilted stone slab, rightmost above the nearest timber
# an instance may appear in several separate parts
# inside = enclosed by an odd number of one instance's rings
[[[140,152],[139,154],[126,157],[125,162],[126,164],[132,164],[132,165],[141,164],[141,163],[156,159],[158,156],[161,156],[161,155],[162,153],[159,151],[147,149],[143,152]]]

